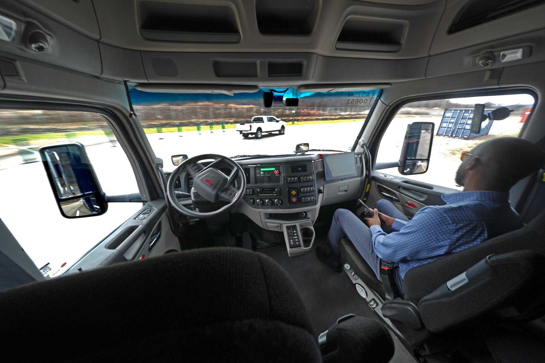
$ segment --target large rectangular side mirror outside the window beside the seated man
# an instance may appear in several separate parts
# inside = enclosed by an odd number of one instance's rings
[[[432,151],[434,126],[432,122],[413,122],[407,126],[399,159],[399,174],[426,173]]]

